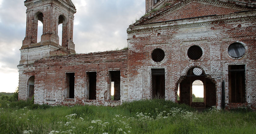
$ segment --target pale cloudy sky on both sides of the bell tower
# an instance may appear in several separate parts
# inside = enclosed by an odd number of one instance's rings
[[[18,86],[19,49],[26,28],[24,1],[0,0],[0,92],[14,92]],[[77,10],[73,32],[76,53],[126,47],[126,29],[145,13],[145,0],[72,2]]]

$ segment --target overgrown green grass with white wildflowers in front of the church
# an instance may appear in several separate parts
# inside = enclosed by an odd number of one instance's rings
[[[256,113],[195,109],[165,100],[117,107],[48,106],[0,101],[0,133],[256,133]],[[30,130],[30,131],[29,131]]]

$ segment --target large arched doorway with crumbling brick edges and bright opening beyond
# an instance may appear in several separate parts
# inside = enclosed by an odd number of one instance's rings
[[[216,87],[199,67],[192,67],[180,82],[180,103],[189,106],[211,107],[216,105]],[[195,95],[194,92],[198,92]],[[193,95],[194,94],[194,95]],[[198,101],[196,101],[196,99]]]

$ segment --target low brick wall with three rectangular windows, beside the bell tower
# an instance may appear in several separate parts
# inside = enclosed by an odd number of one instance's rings
[[[35,62],[35,103],[114,106],[127,101],[127,51],[55,56]],[[109,71],[120,70],[120,100],[111,101]],[[97,72],[96,100],[87,98],[86,72]],[[65,73],[75,73],[75,97],[67,99]]]

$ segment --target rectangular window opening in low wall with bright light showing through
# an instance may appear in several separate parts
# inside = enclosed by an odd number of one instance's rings
[[[120,71],[109,71],[110,76],[110,94],[112,88],[112,82],[114,82],[114,94],[111,96],[111,100],[120,100]],[[113,89],[113,88],[112,88]]]

